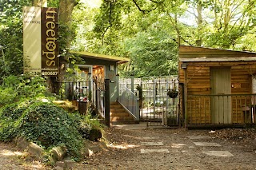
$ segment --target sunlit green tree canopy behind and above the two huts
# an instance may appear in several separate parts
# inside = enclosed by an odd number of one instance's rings
[[[255,51],[255,5],[255,0],[104,1],[95,10],[94,30],[86,30],[86,47],[129,57],[133,63],[119,66],[121,76],[169,75],[177,73],[180,44]]]

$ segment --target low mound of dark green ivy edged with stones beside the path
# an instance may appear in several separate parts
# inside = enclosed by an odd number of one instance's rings
[[[42,101],[6,105],[0,115],[0,139],[24,136],[46,149],[64,145],[69,156],[79,157],[82,136],[78,132],[80,120],[75,117],[79,116]]]

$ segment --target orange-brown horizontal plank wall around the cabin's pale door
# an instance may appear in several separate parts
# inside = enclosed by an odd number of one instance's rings
[[[181,68],[182,62],[179,62]],[[232,94],[250,94],[251,76],[256,73],[256,61],[216,61],[216,62],[189,62],[187,63],[187,93],[191,94],[211,94],[210,91],[210,67],[231,67],[231,88]],[[184,69],[178,70],[179,82],[184,83]],[[241,85],[241,87],[239,86]],[[182,91],[181,91],[182,110]],[[250,105],[250,98],[238,99],[232,97],[232,123],[244,123],[242,105]],[[210,117],[210,97],[188,98],[188,124],[189,125],[209,125]]]

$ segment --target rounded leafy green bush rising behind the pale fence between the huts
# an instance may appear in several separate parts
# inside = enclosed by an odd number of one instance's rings
[[[177,45],[165,32],[154,29],[137,34],[126,40],[126,49],[130,51],[135,77],[166,76],[177,74]],[[129,73],[129,72],[128,72]]]

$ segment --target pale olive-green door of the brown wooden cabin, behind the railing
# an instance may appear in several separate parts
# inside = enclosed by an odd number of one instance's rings
[[[210,68],[211,94],[211,116],[213,124],[230,124],[231,120],[231,68]]]

